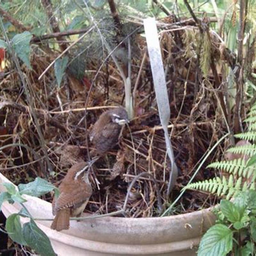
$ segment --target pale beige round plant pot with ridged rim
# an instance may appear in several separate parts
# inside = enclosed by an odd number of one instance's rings
[[[0,173],[3,182],[10,182]],[[25,196],[28,211],[35,218],[52,218],[52,205],[42,199]],[[20,210],[19,204],[4,202],[6,217]],[[159,218],[104,217],[86,221],[70,221],[69,230],[57,232],[51,221],[36,221],[50,238],[54,251],[66,255],[196,255],[204,232],[214,224],[210,209]],[[21,222],[27,222],[21,218]]]

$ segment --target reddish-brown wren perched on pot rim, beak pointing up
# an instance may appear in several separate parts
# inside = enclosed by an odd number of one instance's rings
[[[98,159],[99,157],[95,157],[90,163],[77,163],[68,170],[59,186],[60,195],[52,201],[52,214],[55,215],[52,229],[68,229],[69,218],[79,217],[84,211],[92,195],[89,170]]]

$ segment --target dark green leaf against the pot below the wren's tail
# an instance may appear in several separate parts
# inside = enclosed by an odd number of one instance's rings
[[[30,219],[23,225],[22,234],[28,246],[34,249],[41,256],[55,256],[49,238],[37,227],[34,220]]]

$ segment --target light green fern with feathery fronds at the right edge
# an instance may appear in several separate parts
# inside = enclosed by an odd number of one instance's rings
[[[236,134],[235,137],[243,140],[256,140],[256,104],[252,106],[245,122],[248,123],[248,132]],[[197,189],[217,194],[217,196],[226,196],[230,199],[236,196],[241,191],[248,189],[255,189],[255,147],[256,144],[245,144],[228,149],[228,152],[233,154],[241,154],[241,158],[214,162],[207,166],[207,168],[215,168],[222,172],[226,172],[222,178],[216,177],[210,180],[198,181],[188,184],[184,189]],[[252,156],[248,162],[242,156]]]

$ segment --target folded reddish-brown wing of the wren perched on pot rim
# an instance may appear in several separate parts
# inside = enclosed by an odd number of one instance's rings
[[[92,195],[91,185],[84,182],[81,183],[77,182],[77,186],[74,186],[74,184],[65,184],[65,189],[62,189],[60,196],[54,202],[54,212],[72,207],[90,198]]]

